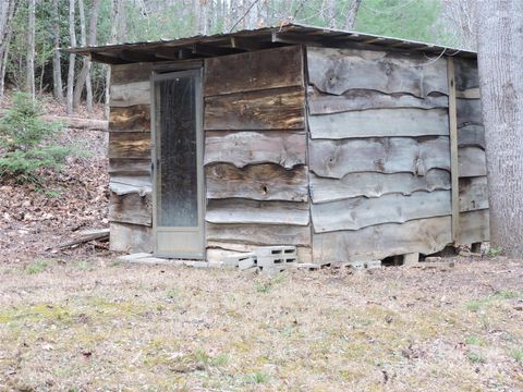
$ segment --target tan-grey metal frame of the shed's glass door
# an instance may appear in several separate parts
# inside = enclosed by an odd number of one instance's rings
[[[162,228],[162,232],[194,232],[199,233],[202,246],[197,253],[160,253],[158,250],[158,136],[156,128],[156,88],[155,83],[159,81],[168,81],[175,77],[196,76],[195,84],[195,111],[196,111],[196,177],[197,177],[197,205],[198,205],[198,225],[195,228]],[[154,254],[157,257],[165,258],[191,258],[205,259],[205,177],[204,177],[204,134],[203,134],[203,117],[204,117],[204,98],[203,98],[203,68],[188,68],[185,70],[162,70],[154,72],[150,76],[150,131],[151,131],[151,176],[153,176],[153,242]]]

